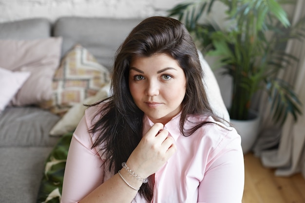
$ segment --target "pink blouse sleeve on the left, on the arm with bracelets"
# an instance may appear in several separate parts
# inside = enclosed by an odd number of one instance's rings
[[[69,148],[61,203],[77,203],[103,183],[103,160],[95,149],[85,117],[79,122]]]

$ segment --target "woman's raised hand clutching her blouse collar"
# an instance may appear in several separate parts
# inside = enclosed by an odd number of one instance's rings
[[[158,171],[176,151],[173,138],[163,127],[154,124],[127,160],[127,166],[142,178]]]

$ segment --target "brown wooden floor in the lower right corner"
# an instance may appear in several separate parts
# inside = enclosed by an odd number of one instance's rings
[[[264,168],[252,153],[245,155],[243,203],[305,203],[302,174],[277,177],[274,169]]]

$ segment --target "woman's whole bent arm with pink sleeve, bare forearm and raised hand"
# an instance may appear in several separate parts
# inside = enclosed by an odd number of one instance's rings
[[[168,131],[162,130],[156,136],[162,128],[161,124],[150,129],[127,160],[127,165],[140,177],[155,173],[175,151],[172,138],[167,137]],[[120,171],[123,178],[119,174],[111,177],[109,170],[104,168],[105,160],[91,149],[90,143],[85,143],[88,140],[88,136],[84,136],[86,131],[81,128],[76,131],[69,148],[62,203],[79,200],[80,203],[131,203],[142,182],[124,168]]]

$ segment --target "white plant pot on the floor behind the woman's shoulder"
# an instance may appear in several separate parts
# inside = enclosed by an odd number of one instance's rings
[[[234,120],[230,122],[241,136],[243,153],[248,153],[253,147],[259,130],[260,117],[257,112],[250,111],[249,120]]]

